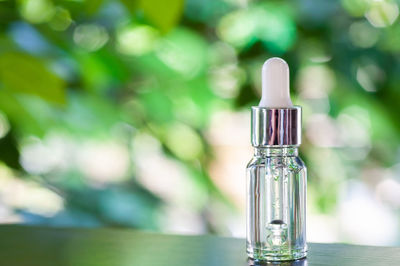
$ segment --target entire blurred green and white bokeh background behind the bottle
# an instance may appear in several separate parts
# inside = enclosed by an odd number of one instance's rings
[[[243,237],[249,108],[280,56],[309,241],[399,245],[399,4],[0,1],[0,222]]]

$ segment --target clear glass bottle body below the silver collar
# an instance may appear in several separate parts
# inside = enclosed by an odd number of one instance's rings
[[[307,255],[307,173],[296,146],[256,148],[247,166],[247,254],[254,260]]]

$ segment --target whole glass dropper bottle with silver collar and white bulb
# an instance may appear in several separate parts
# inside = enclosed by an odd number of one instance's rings
[[[293,106],[289,67],[262,68],[262,97],[251,109],[254,157],[247,165],[247,255],[256,261],[306,257],[307,169],[298,156],[301,107]]]

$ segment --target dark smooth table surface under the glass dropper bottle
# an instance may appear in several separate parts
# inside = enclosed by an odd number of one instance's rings
[[[306,260],[265,265],[400,265],[399,247],[309,244]],[[243,239],[128,229],[0,226],[0,265],[249,266]]]

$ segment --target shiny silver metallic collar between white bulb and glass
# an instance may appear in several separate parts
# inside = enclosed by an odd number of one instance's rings
[[[251,144],[254,147],[301,144],[301,107],[251,107]]]

